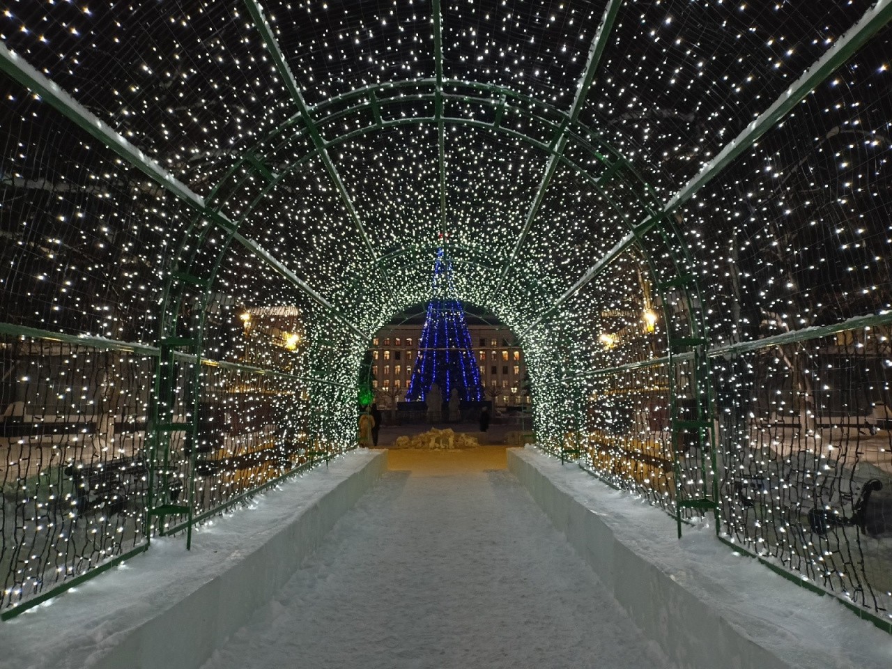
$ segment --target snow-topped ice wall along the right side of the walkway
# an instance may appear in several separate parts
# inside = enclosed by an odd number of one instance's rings
[[[508,468],[680,669],[892,666],[892,637],[575,464],[509,449]]]

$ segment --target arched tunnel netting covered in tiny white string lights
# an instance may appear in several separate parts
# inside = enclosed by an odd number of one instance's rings
[[[889,625],[888,0],[0,7],[7,614],[355,446],[445,236],[541,448]]]

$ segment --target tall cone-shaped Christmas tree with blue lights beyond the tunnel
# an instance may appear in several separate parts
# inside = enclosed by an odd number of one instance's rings
[[[443,400],[452,396],[453,388],[458,388],[462,400],[483,399],[465,309],[455,294],[452,264],[440,248],[434,261],[431,301],[427,303],[425,329],[421,332],[406,401],[424,401],[434,384],[440,386]]]

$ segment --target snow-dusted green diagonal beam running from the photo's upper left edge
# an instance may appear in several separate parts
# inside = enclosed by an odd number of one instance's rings
[[[3,70],[10,78],[18,81],[22,86],[29,88],[39,95],[46,103],[49,103],[62,116],[74,122],[79,128],[84,129],[91,136],[95,137],[103,146],[117,153],[121,158],[130,165],[142,171],[154,183],[158,184],[169,193],[174,194],[182,202],[186,202],[189,206],[199,211],[203,216],[211,219],[216,225],[226,230],[234,236],[239,244],[251,251],[258,259],[262,260],[269,267],[275,269],[280,275],[285,277],[291,284],[295,285],[301,293],[310,296],[310,299],[316,301],[320,306],[340,318],[343,323],[348,326],[355,334],[365,336],[356,326],[335,307],[323,298],[319,293],[312,290],[306,282],[297,277],[290,269],[286,268],[281,261],[274,258],[269,252],[265,251],[257,242],[244,237],[237,233],[235,223],[226,218],[219,211],[213,211],[208,207],[201,195],[195,193],[191,188],[183,184],[177,178],[173,177],[166,169],[163,169],[158,163],[149,158],[145,153],[141,152],[136,146],[131,145],[127,139],[121,136],[114,129],[110,128],[102,120],[96,118],[95,114],[87,111],[87,108],[78,103],[73,97],[68,95],[50,79],[35,70],[28,62],[26,62],[19,54],[15,54],[0,44],[0,70]]]

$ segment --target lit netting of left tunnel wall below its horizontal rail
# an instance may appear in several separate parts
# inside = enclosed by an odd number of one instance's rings
[[[333,455],[308,438],[306,379],[213,360],[202,361],[197,421],[184,395],[153,443],[159,362],[139,343],[3,326],[0,615]],[[177,362],[188,392],[196,360]]]

